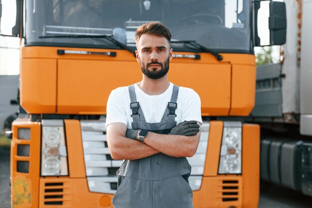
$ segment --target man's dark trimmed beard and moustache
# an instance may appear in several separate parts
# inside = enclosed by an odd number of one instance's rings
[[[158,61],[152,61],[144,65],[144,63],[140,61],[140,64],[141,64],[141,70],[143,74],[149,77],[150,79],[159,79],[163,77],[164,75],[166,75],[169,71],[169,57],[163,63],[158,62]],[[160,70],[157,71],[157,68],[155,67],[155,68],[152,68],[152,70],[150,71],[148,68],[152,64],[158,64],[161,67]]]

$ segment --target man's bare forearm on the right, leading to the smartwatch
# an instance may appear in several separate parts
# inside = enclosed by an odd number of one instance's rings
[[[149,132],[145,144],[172,157],[192,157],[198,147],[200,132],[194,136],[164,135]]]

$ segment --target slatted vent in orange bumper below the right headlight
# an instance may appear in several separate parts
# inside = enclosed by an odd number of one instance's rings
[[[222,202],[238,201],[238,181],[223,181]]]

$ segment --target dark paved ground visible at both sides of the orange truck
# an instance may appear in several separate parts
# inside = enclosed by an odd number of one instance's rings
[[[262,182],[259,208],[311,208],[312,197]],[[10,208],[9,150],[0,147],[0,208]]]

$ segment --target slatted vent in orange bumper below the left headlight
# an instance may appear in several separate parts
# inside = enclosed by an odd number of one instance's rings
[[[63,205],[63,183],[45,183],[44,205]]]

